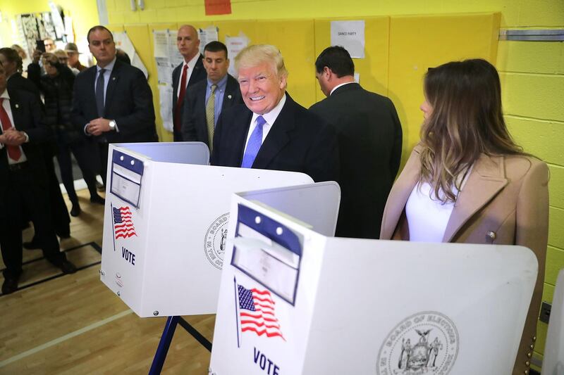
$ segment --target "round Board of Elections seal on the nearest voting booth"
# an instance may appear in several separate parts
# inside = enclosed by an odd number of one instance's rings
[[[458,331],[445,314],[418,312],[396,325],[382,343],[378,375],[446,375],[458,356]]]

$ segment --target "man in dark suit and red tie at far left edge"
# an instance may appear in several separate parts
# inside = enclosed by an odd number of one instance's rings
[[[45,258],[64,273],[76,267],[61,253],[49,207],[49,177],[42,148],[50,129],[41,120],[34,95],[6,89],[6,72],[0,63],[0,248],[4,269],[2,294],[18,288],[22,273],[23,213],[33,222]]]

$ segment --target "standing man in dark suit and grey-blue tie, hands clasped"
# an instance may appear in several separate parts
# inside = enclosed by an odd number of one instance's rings
[[[106,183],[108,144],[156,142],[153,96],[141,70],[116,60],[116,44],[104,26],[87,35],[97,65],[75,79],[73,124],[99,145],[100,170]]]

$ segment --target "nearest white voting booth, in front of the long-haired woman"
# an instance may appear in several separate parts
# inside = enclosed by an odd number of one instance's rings
[[[234,195],[209,374],[510,374],[534,253],[329,237],[330,190]]]

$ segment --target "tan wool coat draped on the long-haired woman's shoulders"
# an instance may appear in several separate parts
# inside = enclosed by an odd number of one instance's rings
[[[419,182],[417,146],[388,196],[380,239],[409,241],[405,204]],[[525,155],[482,154],[458,196],[443,242],[525,246],[537,255],[539,274],[513,374],[528,374],[537,340],[548,241],[548,167]]]

